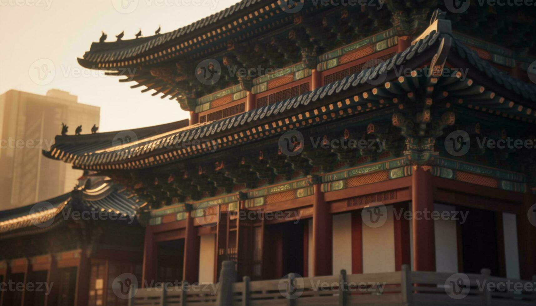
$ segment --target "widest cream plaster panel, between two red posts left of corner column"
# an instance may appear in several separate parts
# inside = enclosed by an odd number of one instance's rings
[[[394,222],[391,206],[388,218],[381,227],[362,223],[363,273],[394,272]]]

